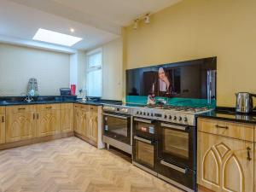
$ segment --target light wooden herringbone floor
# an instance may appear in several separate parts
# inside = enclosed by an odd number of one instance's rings
[[[177,192],[77,137],[0,151],[0,192]]]

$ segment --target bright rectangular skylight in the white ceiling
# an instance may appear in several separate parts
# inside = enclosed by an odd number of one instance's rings
[[[51,44],[61,44],[65,46],[73,46],[83,38],[77,38],[71,35],[62,34],[60,32],[53,32],[46,29],[38,29],[38,32],[33,37],[33,40],[44,41]]]

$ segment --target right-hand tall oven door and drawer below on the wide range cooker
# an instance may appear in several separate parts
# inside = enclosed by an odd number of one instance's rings
[[[196,189],[195,126],[160,122],[158,176],[183,189]]]

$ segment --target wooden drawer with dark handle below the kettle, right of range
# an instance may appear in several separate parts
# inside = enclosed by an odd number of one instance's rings
[[[253,142],[253,125],[199,118],[197,122],[197,129],[198,131],[212,133],[219,136],[232,137]]]

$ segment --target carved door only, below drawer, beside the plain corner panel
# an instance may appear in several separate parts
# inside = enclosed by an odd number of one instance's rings
[[[54,135],[60,129],[60,110],[38,112],[38,137]]]

